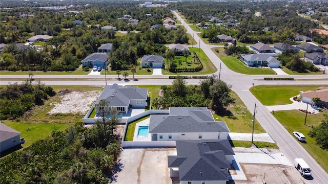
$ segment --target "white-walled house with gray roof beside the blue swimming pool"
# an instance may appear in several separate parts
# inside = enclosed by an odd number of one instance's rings
[[[149,122],[151,141],[227,139],[229,132],[207,107],[170,107],[169,114],[152,114]]]

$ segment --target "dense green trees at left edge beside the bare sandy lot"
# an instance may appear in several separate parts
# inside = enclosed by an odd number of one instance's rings
[[[48,96],[56,95],[51,86],[43,83],[10,84],[0,88],[0,119],[17,119],[30,110],[34,105],[43,105]]]

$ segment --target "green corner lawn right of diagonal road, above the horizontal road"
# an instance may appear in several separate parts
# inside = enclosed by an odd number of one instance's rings
[[[274,75],[276,74],[271,68],[261,68],[261,67],[248,67],[243,64],[237,57],[227,56],[224,53],[223,48],[212,48],[211,50],[215,52],[215,49],[219,50],[217,53],[218,57],[221,61],[229,67],[230,70],[240,73],[240,74],[248,74],[248,75]]]

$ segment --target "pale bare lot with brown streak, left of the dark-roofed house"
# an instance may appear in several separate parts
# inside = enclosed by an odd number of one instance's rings
[[[121,171],[112,183],[179,183],[178,178],[170,178],[168,155],[176,155],[176,148],[123,149]]]

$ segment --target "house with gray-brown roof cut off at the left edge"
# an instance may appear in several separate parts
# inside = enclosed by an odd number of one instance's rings
[[[20,144],[20,132],[0,123],[0,152]]]

